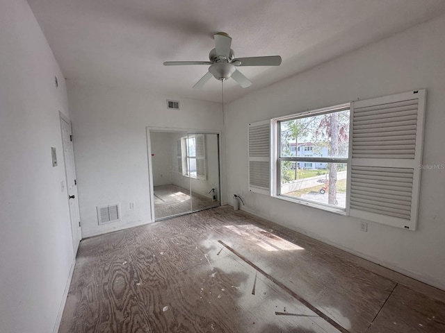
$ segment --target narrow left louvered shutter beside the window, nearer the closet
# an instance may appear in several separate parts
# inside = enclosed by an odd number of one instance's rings
[[[270,195],[270,120],[249,124],[249,191]]]

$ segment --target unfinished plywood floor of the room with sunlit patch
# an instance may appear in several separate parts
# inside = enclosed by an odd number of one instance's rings
[[[225,206],[81,241],[59,332],[445,332],[445,292]]]

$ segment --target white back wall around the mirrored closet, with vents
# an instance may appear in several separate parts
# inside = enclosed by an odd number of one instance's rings
[[[73,80],[67,86],[83,237],[151,221],[147,126],[223,129],[219,103]],[[181,110],[168,110],[166,99],[179,100]],[[122,221],[98,225],[96,206],[115,202]]]

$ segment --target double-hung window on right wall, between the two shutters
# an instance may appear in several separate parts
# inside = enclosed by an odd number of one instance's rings
[[[346,211],[349,122],[349,105],[277,119],[278,196]],[[295,157],[297,144],[304,153]]]

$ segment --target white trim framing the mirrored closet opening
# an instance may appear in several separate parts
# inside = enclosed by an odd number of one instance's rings
[[[164,132],[164,133],[186,133],[187,135],[191,134],[215,134],[218,135],[218,178],[219,178],[219,189],[220,189],[220,205],[223,205],[223,198],[225,198],[225,193],[222,187],[221,175],[222,175],[222,167],[223,167],[223,155],[221,153],[221,145],[223,144],[223,139],[221,136],[220,130],[209,130],[209,129],[201,129],[201,128],[176,128],[176,127],[156,127],[156,126],[147,126],[146,135],[147,135],[147,162],[148,162],[148,189],[149,189],[149,198],[150,198],[150,208],[151,208],[151,217],[152,222],[161,221],[163,219],[170,219],[171,217],[182,215],[174,215],[168,216],[165,218],[161,218],[156,220],[154,216],[154,180],[153,180],[153,167],[152,167],[152,143],[150,142],[150,132]],[[211,208],[211,207],[209,207]],[[206,208],[207,209],[207,208]],[[188,213],[186,213],[188,214]]]

